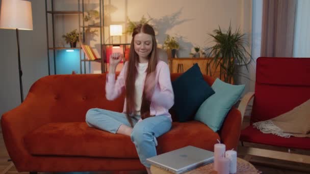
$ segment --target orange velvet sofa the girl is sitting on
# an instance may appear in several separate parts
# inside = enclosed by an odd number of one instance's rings
[[[180,74],[171,74],[171,80]],[[210,85],[214,79],[204,76]],[[130,137],[90,128],[86,111],[104,108],[122,111],[124,96],[108,101],[106,74],[51,75],[36,81],[24,102],[3,114],[5,144],[18,171],[126,171],[144,170]],[[220,139],[237,149],[241,113],[231,108],[221,130],[213,132],[198,121],[174,120],[158,138],[158,154],[185,146],[213,151]]]

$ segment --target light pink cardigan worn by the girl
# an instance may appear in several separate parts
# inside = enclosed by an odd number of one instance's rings
[[[108,74],[106,82],[106,97],[108,100],[116,99],[125,89],[126,69],[127,69],[127,62],[125,62],[125,65],[121,70],[120,74],[118,75],[116,81],[115,81],[115,74],[111,73]],[[169,67],[163,61],[159,61],[157,64],[155,80],[157,82],[157,85],[155,87],[151,99],[152,101],[150,104],[150,114],[167,115],[167,117],[169,117],[171,120],[171,114],[168,112],[168,110],[174,104],[174,95],[171,85]],[[126,111],[126,99],[123,108],[123,112],[125,111]]]

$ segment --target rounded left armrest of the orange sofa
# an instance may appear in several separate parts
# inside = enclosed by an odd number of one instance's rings
[[[4,142],[17,170],[27,165],[31,157],[24,146],[24,136],[32,130],[51,122],[50,106],[29,92],[27,98],[1,118]]]

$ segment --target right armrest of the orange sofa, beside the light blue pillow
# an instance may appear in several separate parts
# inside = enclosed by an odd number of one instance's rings
[[[221,141],[226,146],[226,150],[237,150],[242,124],[241,120],[240,111],[235,107],[231,108],[219,132]]]

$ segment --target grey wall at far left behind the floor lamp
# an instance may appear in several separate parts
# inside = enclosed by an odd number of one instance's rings
[[[33,0],[33,31],[19,32],[24,98],[30,86],[48,75],[46,52],[45,1]],[[1,0],[0,0],[1,4]],[[0,115],[20,104],[15,30],[0,29]]]

